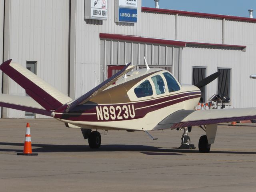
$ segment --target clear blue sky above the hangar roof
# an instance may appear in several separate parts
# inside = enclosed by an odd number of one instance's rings
[[[142,0],[142,6],[155,7],[155,2]],[[256,18],[256,0],[160,0],[159,8],[240,17],[249,17],[248,9],[253,9]]]

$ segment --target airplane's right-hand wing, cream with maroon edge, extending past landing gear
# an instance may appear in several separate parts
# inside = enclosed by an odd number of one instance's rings
[[[256,108],[179,110],[164,118],[153,130],[176,129],[232,121],[256,119]]]

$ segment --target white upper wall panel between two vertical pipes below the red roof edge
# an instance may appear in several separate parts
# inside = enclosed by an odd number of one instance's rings
[[[178,16],[177,40],[221,44],[222,20]]]

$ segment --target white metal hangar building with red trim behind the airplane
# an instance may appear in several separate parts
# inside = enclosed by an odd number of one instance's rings
[[[231,108],[256,106],[249,78],[256,73],[255,34],[254,18],[147,8],[141,0],[0,0],[0,60],[12,58],[71,98],[128,62],[145,67],[145,56],[182,83],[222,72],[204,89],[204,102],[222,92]],[[25,95],[2,73],[0,86]],[[2,108],[1,117],[34,114]]]

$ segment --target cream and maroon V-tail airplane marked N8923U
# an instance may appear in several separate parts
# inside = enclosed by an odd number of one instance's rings
[[[67,127],[80,128],[91,148],[100,147],[97,130],[144,131],[156,139],[148,131],[183,129],[182,144],[189,146],[191,126],[200,126],[206,135],[200,137],[199,151],[209,152],[217,123],[256,119],[256,108],[196,110],[201,96],[199,88],[216,79],[218,72],[193,86],[180,84],[166,70],[147,67],[132,71],[134,66],[127,64],[111,78],[72,100],[11,61],[2,63],[0,69],[30,97],[0,94],[0,106],[52,116]]]

